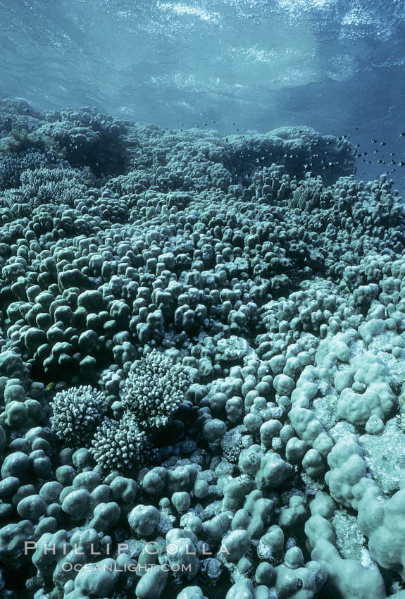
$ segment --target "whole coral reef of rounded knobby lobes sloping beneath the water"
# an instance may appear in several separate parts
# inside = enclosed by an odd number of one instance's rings
[[[0,101],[0,598],[404,599],[405,210],[345,139]]]

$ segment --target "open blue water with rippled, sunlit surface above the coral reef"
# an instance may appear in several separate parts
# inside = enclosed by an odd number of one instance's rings
[[[170,128],[310,125],[368,152],[360,178],[404,187],[390,163],[405,149],[403,0],[0,0],[0,13],[4,96]]]

